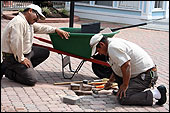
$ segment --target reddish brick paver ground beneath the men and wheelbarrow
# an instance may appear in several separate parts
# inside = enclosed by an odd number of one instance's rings
[[[1,20],[1,34],[9,20]],[[81,23],[91,22],[81,20],[74,24],[80,27]],[[68,23],[46,23],[57,27],[68,27]],[[118,27],[114,23],[102,22],[102,27]],[[48,35],[36,35],[48,38]],[[77,81],[83,79],[97,79],[91,69],[91,62],[85,62],[78,74],[72,80],[64,79],[61,70],[61,56],[51,52],[50,57],[37,66],[39,73],[38,83],[34,87],[28,87],[15,83],[3,77],[1,80],[1,112],[86,112],[86,111],[113,111],[113,112],[169,112],[169,32],[145,30],[140,28],[122,29],[115,35],[124,38],[143,47],[153,58],[158,67],[159,79],[157,86],[164,84],[167,89],[168,100],[163,106],[122,106],[118,104],[114,95],[91,95],[81,98],[80,103],[70,105],[63,103],[66,95],[75,95],[68,86],[54,86],[54,82]],[[34,40],[36,43],[44,44]],[[51,45],[49,45],[51,46]],[[51,46],[52,47],[52,46]],[[75,69],[80,59],[72,58],[72,68]],[[71,73],[66,72],[67,75]]]

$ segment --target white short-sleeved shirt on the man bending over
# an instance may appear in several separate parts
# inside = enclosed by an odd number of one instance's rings
[[[138,45],[121,38],[108,38],[109,64],[123,77],[121,66],[130,60],[131,78],[155,66],[151,57]]]

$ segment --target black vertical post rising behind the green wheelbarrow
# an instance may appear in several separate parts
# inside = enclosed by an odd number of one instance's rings
[[[74,23],[74,1],[70,1],[70,23],[69,27],[73,27]]]

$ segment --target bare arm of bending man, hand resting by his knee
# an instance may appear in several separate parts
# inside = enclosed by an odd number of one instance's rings
[[[130,65],[130,60],[128,60],[126,63],[124,63],[121,66],[121,71],[123,74],[123,84],[120,86],[118,92],[117,92],[117,96],[119,95],[120,98],[122,98],[122,96],[126,96],[126,90],[128,88],[129,85],[129,80],[131,77],[131,65]]]

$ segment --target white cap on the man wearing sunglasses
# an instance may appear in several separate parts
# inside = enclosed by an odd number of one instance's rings
[[[26,8],[31,8],[31,9],[36,10],[38,14],[40,15],[40,19],[45,20],[45,16],[42,14],[42,9],[38,5],[31,4],[31,5],[28,5]]]

